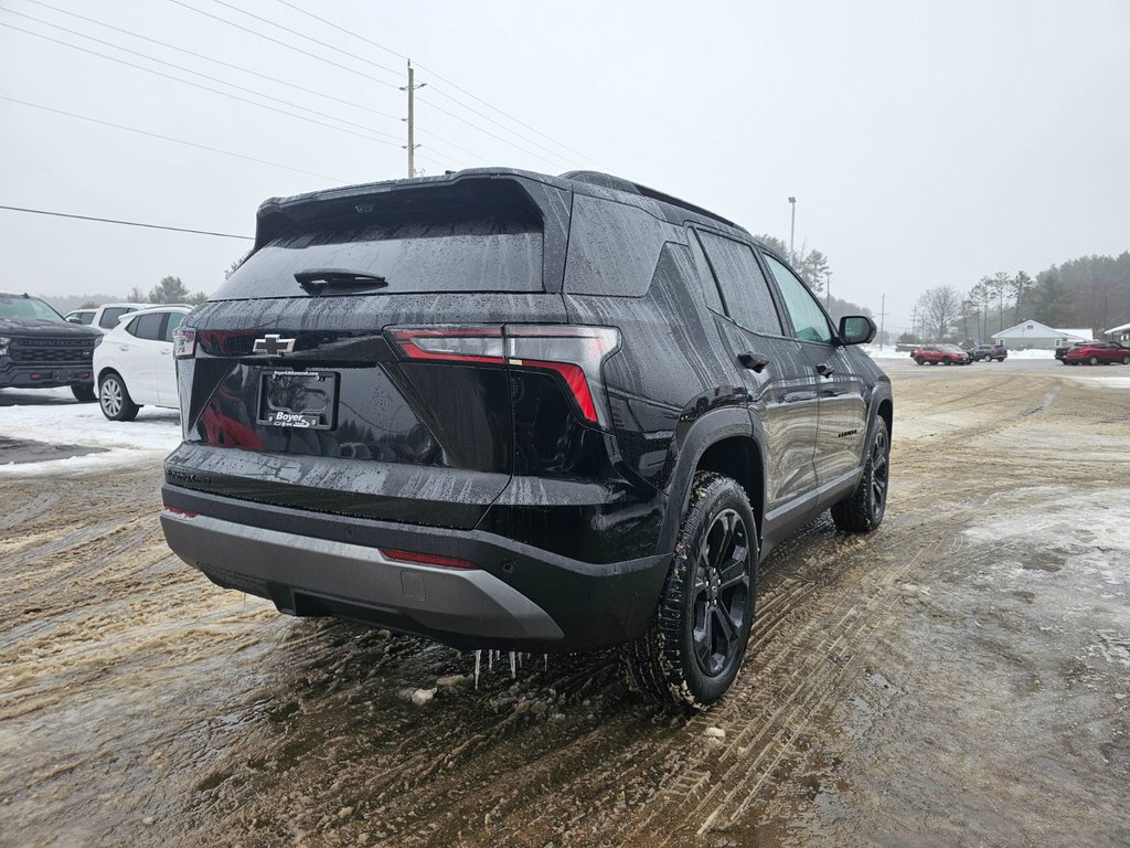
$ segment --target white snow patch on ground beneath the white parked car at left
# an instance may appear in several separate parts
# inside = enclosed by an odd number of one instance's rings
[[[77,403],[70,389],[10,389],[0,392],[0,436],[105,449],[44,462],[0,464],[0,475],[101,469],[173,450],[181,443],[181,415],[147,406],[137,421],[107,421],[97,404]]]

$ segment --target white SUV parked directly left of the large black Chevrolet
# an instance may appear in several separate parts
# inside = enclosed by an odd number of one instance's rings
[[[146,404],[176,408],[173,330],[191,306],[137,310],[106,334],[94,352],[98,405],[111,421],[133,421]]]

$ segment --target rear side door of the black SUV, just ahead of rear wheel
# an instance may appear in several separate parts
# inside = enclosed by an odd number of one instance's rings
[[[816,488],[815,380],[802,346],[784,332],[753,249],[710,231],[696,233],[718,284],[716,291],[707,287],[707,304],[765,432],[766,511],[772,512]]]

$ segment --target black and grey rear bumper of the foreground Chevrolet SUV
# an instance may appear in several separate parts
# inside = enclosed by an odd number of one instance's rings
[[[218,586],[458,648],[591,649],[651,621],[669,557],[577,562],[478,530],[325,516],[165,485],[168,546]],[[380,547],[479,568],[408,564]]]

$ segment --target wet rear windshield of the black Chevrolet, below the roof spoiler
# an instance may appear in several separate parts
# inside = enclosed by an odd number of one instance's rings
[[[375,294],[541,292],[541,241],[540,223],[505,217],[323,224],[255,251],[212,300],[308,296],[294,275],[324,269],[383,277]]]

